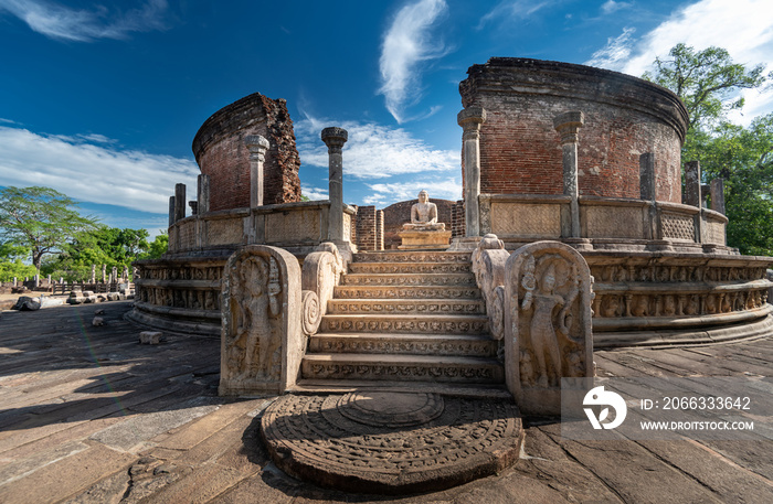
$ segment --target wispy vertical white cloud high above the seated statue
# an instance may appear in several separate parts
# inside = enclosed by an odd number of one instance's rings
[[[415,103],[421,95],[417,63],[442,57],[447,52],[443,42],[431,36],[432,28],[447,9],[445,0],[410,3],[400,9],[384,34],[379,93],[384,95],[386,109],[399,124],[405,121],[406,103]]]

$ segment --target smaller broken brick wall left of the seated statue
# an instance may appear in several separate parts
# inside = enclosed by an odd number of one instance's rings
[[[300,201],[300,158],[286,101],[255,93],[218,110],[193,139],[195,160],[210,176],[211,212],[250,207],[250,151],[244,144],[250,135],[269,142],[264,203]]]

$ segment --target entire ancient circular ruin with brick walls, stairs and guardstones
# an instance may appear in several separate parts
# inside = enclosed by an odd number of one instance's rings
[[[682,196],[676,95],[528,58],[474,65],[459,90],[462,202],[346,204],[338,127],[320,131],[330,199],[299,202],[285,104],[256,94],[204,122],[195,212],[179,184],[168,253],[136,265],[130,318],[221,337],[221,394],[307,394],[262,419],[298,478],[400,493],[496,473],[517,460],[518,409],[558,415],[593,348],[773,330],[773,258],[727,246],[721,181],[686,163]],[[441,230],[449,245],[388,245]]]

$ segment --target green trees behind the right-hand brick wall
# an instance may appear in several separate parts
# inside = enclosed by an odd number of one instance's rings
[[[726,119],[743,107],[741,89],[760,87],[771,76],[762,65],[748,69],[733,63],[723,49],[696,52],[685,44],[671,49],[668,60],[657,58],[655,67],[644,77],[676,93],[689,114],[682,161],[700,161],[705,183],[724,180],[728,245],[773,256],[773,115],[748,128]]]

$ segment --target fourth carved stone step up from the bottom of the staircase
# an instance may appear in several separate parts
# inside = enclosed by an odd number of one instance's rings
[[[331,299],[328,314],[485,314],[481,299]]]

